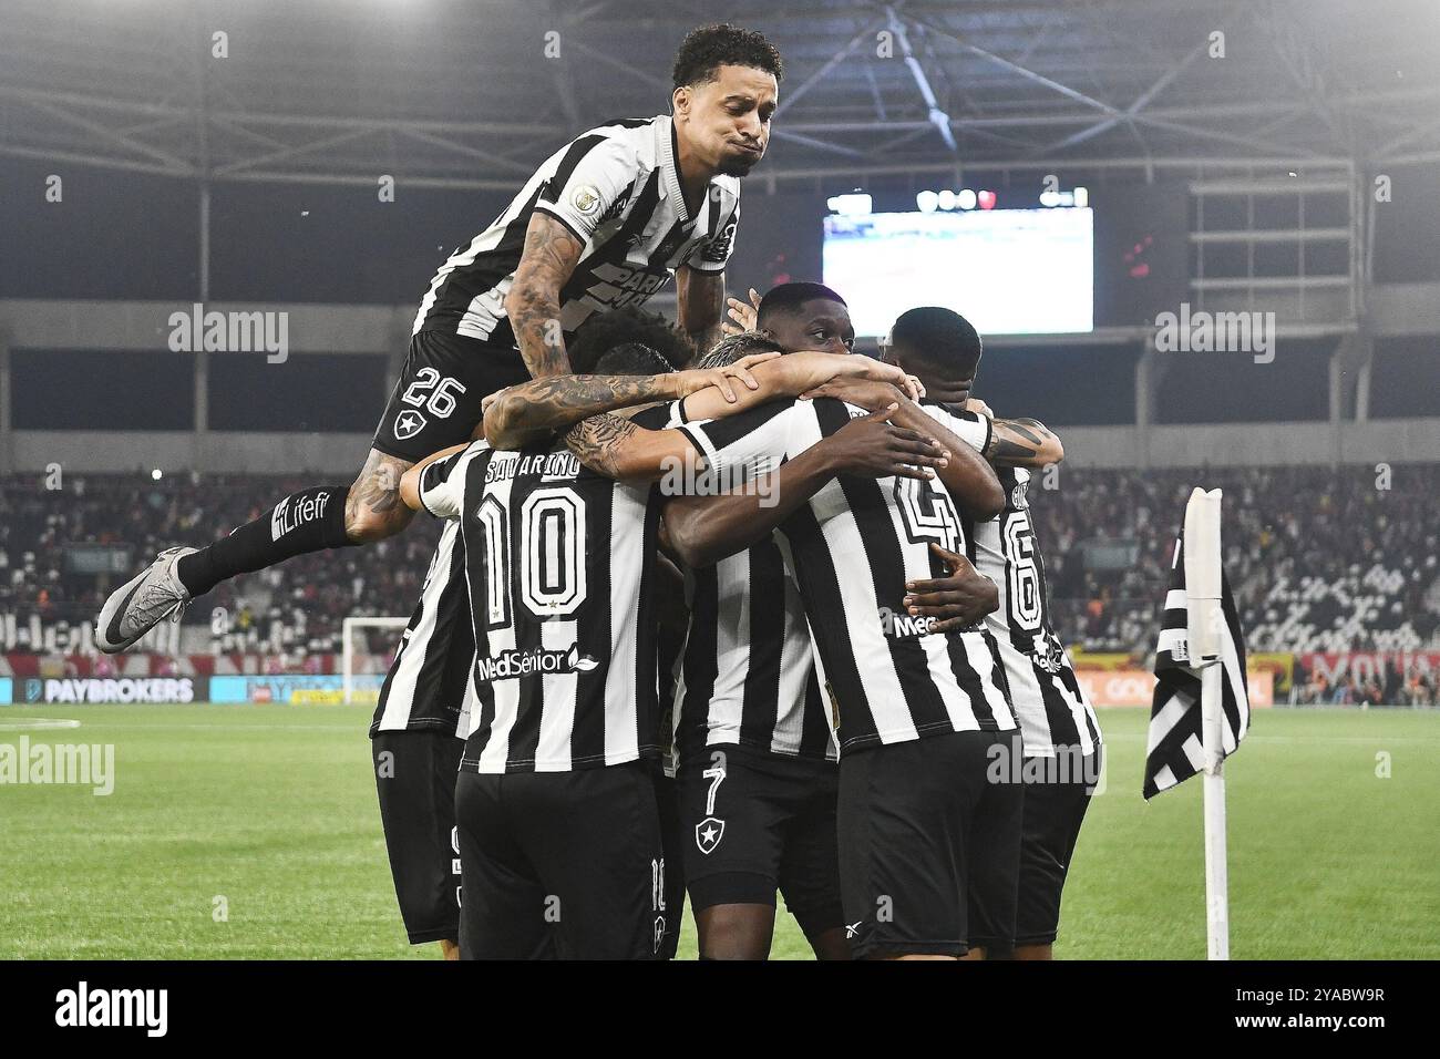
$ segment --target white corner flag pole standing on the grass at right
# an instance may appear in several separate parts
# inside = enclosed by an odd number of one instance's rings
[[[1185,506],[1185,602],[1189,664],[1200,673],[1201,741],[1205,755],[1205,937],[1211,960],[1230,958],[1230,883],[1225,863],[1225,775],[1221,730],[1225,615],[1221,609],[1218,488],[1197,488]]]

